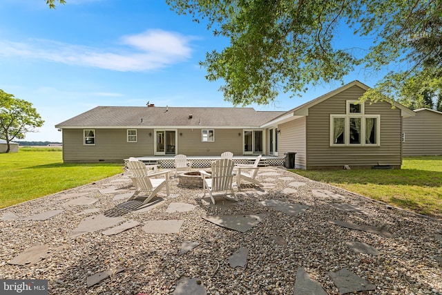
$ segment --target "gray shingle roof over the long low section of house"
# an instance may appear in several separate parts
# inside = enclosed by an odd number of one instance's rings
[[[283,113],[253,108],[97,106],[55,127],[258,127]]]

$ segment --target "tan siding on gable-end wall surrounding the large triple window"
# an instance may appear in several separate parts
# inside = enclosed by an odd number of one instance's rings
[[[401,110],[386,102],[365,103],[365,115],[381,115],[380,146],[330,146],[330,114],[345,114],[346,101],[364,92],[353,86],[309,108],[307,169],[401,165]]]

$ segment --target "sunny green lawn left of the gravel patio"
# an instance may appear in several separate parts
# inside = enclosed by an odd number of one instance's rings
[[[122,173],[122,164],[63,164],[61,149],[0,153],[0,208]]]

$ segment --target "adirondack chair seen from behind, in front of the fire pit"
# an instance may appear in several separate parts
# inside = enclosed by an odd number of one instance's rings
[[[220,196],[230,195],[233,200],[238,201],[232,187],[233,176],[235,175],[233,167],[235,167],[235,164],[232,160],[221,159],[212,162],[211,174],[203,170],[200,171],[204,196],[206,196],[206,191],[209,191],[213,204],[215,204],[214,193],[218,193]]]

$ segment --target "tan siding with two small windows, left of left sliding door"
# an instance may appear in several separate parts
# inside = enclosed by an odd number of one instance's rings
[[[137,142],[127,142],[127,129],[95,129],[95,145],[84,145],[84,129],[63,129],[64,162],[123,162],[153,155],[153,130],[137,129]],[[151,133],[151,135],[149,135]]]

